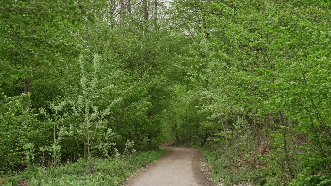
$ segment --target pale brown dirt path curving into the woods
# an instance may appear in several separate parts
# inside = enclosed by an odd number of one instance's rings
[[[211,185],[200,173],[200,152],[192,148],[167,147],[169,153],[127,181],[127,186]]]

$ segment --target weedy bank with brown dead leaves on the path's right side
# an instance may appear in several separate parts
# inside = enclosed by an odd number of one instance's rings
[[[284,153],[282,148],[272,145],[272,140],[274,139],[261,139],[257,143],[247,136],[233,139],[229,146],[231,163],[227,160],[226,146],[221,143],[210,142],[201,147],[197,145],[199,143],[186,142],[180,146],[202,150],[203,157],[213,169],[211,177],[214,183],[221,183],[222,186],[301,186],[300,182],[296,183],[283,173],[286,168],[283,164],[277,164],[284,161]],[[297,149],[291,151],[300,155]],[[304,167],[303,160],[294,156],[291,163],[298,172]]]

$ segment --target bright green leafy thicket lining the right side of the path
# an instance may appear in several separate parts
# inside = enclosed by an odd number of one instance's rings
[[[330,3],[172,5],[191,40],[176,60],[190,83],[176,90],[174,139],[207,148],[225,185],[330,185]]]

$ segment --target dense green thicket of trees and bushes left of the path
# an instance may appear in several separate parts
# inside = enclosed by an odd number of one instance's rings
[[[169,47],[179,36],[153,2],[0,2],[0,175],[25,170],[30,185],[52,185],[53,171],[78,166],[86,172],[71,172],[77,179],[113,172],[107,179],[122,180],[129,174],[115,165],[98,166],[121,154],[123,166],[137,169],[133,159],[142,166],[164,154],[136,154],[163,142],[163,110],[177,81],[169,56],[181,48]],[[56,184],[85,185],[63,179]]]

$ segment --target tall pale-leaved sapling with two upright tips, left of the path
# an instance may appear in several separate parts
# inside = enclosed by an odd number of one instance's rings
[[[121,101],[121,98],[115,99],[106,109],[99,110],[98,106],[95,106],[95,98],[98,98],[97,91],[95,89],[97,85],[98,69],[99,69],[99,57],[96,54],[93,58],[93,74],[92,79],[87,79],[87,73],[84,71],[84,61],[83,57],[79,58],[80,70],[82,77],[80,79],[81,95],[75,101],[70,101],[72,105],[72,111],[74,116],[83,117],[81,125],[74,128],[71,125],[71,131],[76,131],[73,135],[85,135],[84,144],[87,146],[87,156],[88,156],[88,171],[93,172],[91,158],[93,144],[97,141],[96,138],[100,135],[106,128],[106,124],[109,122],[105,117],[111,114],[111,107],[116,105]],[[99,133],[98,133],[99,132]],[[106,133],[107,135],[107,133]],[[108,131],[108,135],[111,135],[111,131]],[[107,143],[107,142],[105,142]],[[114,143],[105,144],[108,146],[114,145]],[[98,145],[96,145],[98,147]]]

